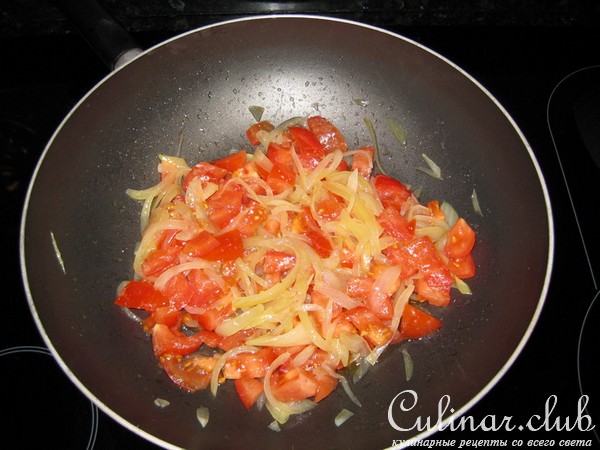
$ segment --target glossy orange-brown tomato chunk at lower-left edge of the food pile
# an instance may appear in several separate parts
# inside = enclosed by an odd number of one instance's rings
[[[189,392],[206,389],[210,384],[211,371],[209,357],[198,356],[182,359],[179,356],[161,358],[163,369],[171,380],[179,387]],[[212,362],[214,367],[214,361]]]

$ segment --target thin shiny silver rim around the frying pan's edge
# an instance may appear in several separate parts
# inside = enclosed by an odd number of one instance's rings
[[[63,370],[63,372],[67,375],[67,377],[70,379],[70,381],[77,386],[77,388],[91,401],[93,401],[93,403],[95,405],[97,405],[106,415],[108,415],[109,417],[111,417],[113,420],[115,420],[117,423],[119,423],[120,425],[122,425],[123,427],[125,427],[126,429],[134,432],[135,434],[141,436],[142,438],[148,440],[151,443],[154,443],[156,445],[159,445],[161,447],[164,448],[180,448],[178,446],[175,446],[169,442],[166,442],[160,438],[158,438],[157,436],[139,428],[138,426],[136,426],[135,424],[131,423],[130,421],[128,421],[127,419],[123,418],[122,416],[120,416],[117,412],[113,411],[108,405],[104,404],[104,402],[102,402],[98,397],[96,397],[96,395],[94,393],[92,393],[85,385],[82,381],[80,381],[77,376],[71,371],[71,369],[69,368],[68,364],[63,360],[62,356],[59,354],[59,352],[57,351],[57,349],[55,348],[55,346],[53,345],[50,337],[48,336],[48,334],[46,333],[44,324],[42,323],[42,319],[38,314],[36,305],[35,305],[35,301],[33,299],[33,295],[30,289],[30,285],[29,285],[29,277],[28,277],[28,271],[27,271],[27,260],[25,257],[25,232],[26,232],[26,228],[27,228],[27,216],[28,216],[28,211],[29,211],[29,206],[30,206],[30,199],[31,199],[31,195],[32,195],[32,191],[33,191],[33,187],[35,185],[38,173],[44,163],[44,159],[47,155],[47,153],[50,151],[50,149],[53,146],[53,143],[56,139],[56,137],[61,133],[62,128],[65,126],[66,123],[69,122],[70,118],[76,113],[76,111],[79,109],[79,107],[82,105],[82,103],[84,103],[91,95],[93,95],[94,92],[96,92],[98,89],[101,88],[101,86],[106,82],[106,80],[108,80],[109,78],[111,78],[114,74],[118,73],[119,71],[123,70],[125,67],[129,66],[130,64],[134,63],[138,58],[142,58],[144,57],[146,54],[160,48],[163,46],[166,46],[168,44],[170,44],[171,42],[177,41],[181,38],[184,38],[186,36],[192,35],[192,34],[196,34],[196,33],[200,33],[203,31],[207,31],[213,28],[219,28],[219,27],[224,27],[224,26],[228,26],[228,25],[233,25],[236,23],[246,23],[246,22],[251,22],[251,21],[264,21],[264,20],[298,20],[298,19],[308,19],[311,21],[324,21],[324,22],[337,22],[337,23],[341,23],[341,24],[346,24],[346,25],[351,25],[351,26],[355,26],[355,27],[359,27],[359,28],[365,28],[365,29],[369,29],[371,31],[375,31],[378,33],[382,33],[382,34],[386,34],[388,36],[391,36],[393,38],[396,39],[400,39],[402,41],[405,41],[406,43],[413,45],[415,47],[417,47],[418,49],[425,51],[429,54],[431,54],[432,56],[440,59],[442,62],[446,63],[448,66],[450,66],[452,69],[454,69],[455,71],[459,72],[462,76],[464,76],[465,78],[467,78],[471,83],[473,83],[482,93],[484,93],[489,100],[492,101],[492,103],[495,105],[495,107],[502,113],[502,115],[506,118],[506,120],[510,123],[510,126],[512,127],[512,129],[516,132],[516,134],[518,135],[520,141],[522,142],[525,150],[527,151],[528,155],[529,155],[529,159],[531,161],[531,163],[533,164],[533,167],[535,169],[539,184],[540,184],[540,188],[544,197],[544,202],[545,202],[545,209],[546,209],[546,219],[547,219],[547,226],[548,226],[548,252],[546,255],[547,258],[547,263],[546,263],[546,270],[545,270],[545,274],[544,274],[544,284],[542,286],[542,290],[540,292],[539,295],[539,299],[536,305],[536,308],[533,312],[532,318],[529,322],[529,325],[527,326],[527,328],[525,329],[521,339],[519,340],[517,346],[515,347],[515,349],[513,350],[512,354],[510,355],[510,357],[506,360],[506,362],[504,362],[504,364],[502,365],[502,367],[500,368],[500,370],[498,370],[498,372],[494,375],[494,377],[492,377],[487,384],[475,395],[473,396],[468,402],[466,402],[463,406],[461,406],[458,410],[454,411],[450,416],[446,417],[444,420],[441,421],[441,426],[445,427],[446,425],[448,425],[450,422],[456,420],[457,418],[463,416],[464,414],[466,414],[466,412],[468,410],[470,410],[475,404],[477,404],[483,397],[485,397],[492,389],[493,387],[504,377],[504,375],[506,374],[506,372],[512,367],[512,365],[514,364],[514,362],[517,360],[517,358],[519,357],[519,355],[521,354],[522,350],[524,349],[525,345],[527,344],[527,342],[529,341],[529,338],[531,337],[531,334],[533,333],[533,330],[535,328],[535,326],[537,325],[537,322],[539,320],[539,317],[541,315],[543,306],[545,304],[547,295],[548,295],[548,291],[549,291],[549,286],[550,286],[550,280],[551,280],[551,275],[552,275],[552,270],[553,270],[553,265],[554,265],[554,252],[555,252],[555,228],[554,228],[554,219],[553,219],[553,211],[552,211],[552,206],[551,206],[551,201],[550,201],[550,195],[549,195],[549,191],[548,191],[548,186],[546,184],[543,172],[541,170],[541,167],[539,165],[539,162],[533,152],[533,149],[531,148],[529,142],[527,141],[524,133],[522,132],[522,130],[519,128],[519,126],[517,125],[517,123],[515,122],[515,120],[512,118],[512,116],[508,113],[508,111],[504,108],[504,106],[491,94],[490,91],[488,91],[478,80],[476,80],[473,76],[471,76],[467,71],[463,70],[460,66],[458,66],[456,63],[454,63],[453,61],[449,60],[448,58],[446,58],[445,56],[439,54],[438,52],[436,52],[435,50],[430,49],[429,47],[411,39],[408,38],[406,36],[403,36],[401,34],[398,33],[394,33],[391,32],[389,30],[386,30],[384,28],[380,28],[374,25],[370,25],[370,24],[366,24],[366,23],[362,23],[362,22],[358,22],[358,21],[354,21],[354,20],[350,20],[350,19],[343,19],[343,18],[338,18],[338,17],[332,17],[332,16],[326,16],[326,15],[314,15],[314,14],[262,14],[262,15],[255,15],[255,16],[250,16],[250,17],[240,17],[240,18],[235,18],[235,19],[230,19],[230,20],[225,20],[225,21],[220,21],[220,22],[216,22],[213,24],[209,24],[206,26],[202,26],[202,27],[198,27],[195,28],[193,30],[189,30],[183,33],[180,33],[176,36],[173,36],[171,38],[168,38],[158,44],[155,44],[152,47],[149,47],[148,49],[142,51],[139,55],[135,56],[133,59],[131,59],[130,61],[128,61],[127,63],[123,64],[122,66],[114,69],[113,71],[109,72],[105,77],[103,77],[99,82],[97,82],[73,107],[72,109],[69,111],[69,113],[65,116],[65,118],[60,122],[59,126],[56,128],[56,130],[53,132],[52,136],[50,137],[48,143],[46,144],[43,152],[40,155],[40,158],[35,166],[35,169],[32,173],[29,185],[28,185],[28,189],[25,195],[25,200],[23,203],[23,210],[22,210],[22,214],[21,214],[21,222],[20,222],[20,232],[19,232],[19,256],[20,256],[20,268],[21,268],[21,276],[22,276],[22,282],[24,285],[24,290],[25,290],[25,295],[27,297],[27,302],[28,302],[28,306],[29,309],[31,311],[32,317],[34,319],[34,322],[36,324],[36,327],[44,341],[44,343],[46,344],[46,346],[48,347],[48,349],[50,350],[50,352],[52,353],[54,359],[57,361],[57,363],[59,364],[60,368]],[[432,429],[428,429],[425,430],[417,435],[415,435],[414,437],[410,438],[409,440],[422,440],[428,436],[431,436],[432,434],[434,434],[437,431],[436,428],[432,428]],[[405,444],[400,444],[400,446],[396,446],[393,448],[405,448],[406,446],[408,446],[410,444],[410,442],[405,443]]]

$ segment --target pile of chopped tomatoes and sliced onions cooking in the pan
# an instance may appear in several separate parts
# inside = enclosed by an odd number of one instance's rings
[[[181,388],[233,380],[242,404],[284,423],[389,345],[434,333],[428,306],[468,292],[475,233],[447,203],[421,204],[349,149],[321,116],[258,121],[240,150],[189,166],[160,156],[143,201],[135,277],[116,304],[144,310],[155,355]]]

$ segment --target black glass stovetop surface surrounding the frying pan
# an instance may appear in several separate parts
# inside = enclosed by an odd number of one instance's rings
[[[114,7],[115,2],[106,3]],[[264,12],[245,9],[250,8],[249,2],[227,3],[231,8],[237,5],[235,11],[240,15]],[[277,5],[290,7],[291,3]],[[597,8],[595,16],[577,10],[564,23],[553,16],[550,26],[540,23],[541,19],[536,26],[519,20],[491,25],[493,11],[487,11],[482,17],[488,26],[481,26],[475,20],[461,22],[453,14],[446,14],[446,19],[437,15],[430,23],[410,22],[401,20],[400,13],[394,16],[393,11],[386,14],[379,9],[374,13],[373,8],[365,7],[368,3],[346,2],[340,13],[333,2],[325,2],[328,15],[351,14],[354,19],[403,34],[473,75],[520,126],[548,182],[555,216],[556,259],[545,308],[512,368],[469,414],[478,422],[487,416],[543,416],[547,399],[556,395],[552,423],[557,420],[564,424],[569,418],[573,425],[577,417],[589,414],[593,423],[600,425],[600,397],[590,393],[600,376],[591,364],[597,359],[600,337],[596,325],[600,244],[593,220],[596,194],[600,192],[600,168],[596,164],[600,32],[590,26],[599,19]],[[295,5],[297,12],[317,8],[312,2]],[[225,18],[226,12],[223,6],[213,14],[198,10],[193,23],[216,22]],[[35,11],[31,14],[37,17]],[[573,24],[573,17],[585,17],[583,25]],[[190,24],[190,16],[180,19],[169,16],[169,25],[163,22],[163,26],[151,19],[145,26],[139,25],[143,21],[132,21],[131,29],[144,46],[150,46]],[[107,73],[78,35],[62,33],[63,22],[56,23],[60,25],[48,33],[36,29],[30,34],[0,35],[0,246],[8,260],[2,277],[6,309],[0,330],[0,386],[5,411],[9,412],[0,440],[19,436],[20,448],[153,448],[99,412],[67,381],[44,347],[23,292],[18,241],[29,177],[53,130]],[[578,412],[582,393],[590,395],[589,403],[586,411]],[[509,443],[513,439],[525,443],[528,439],[556,439],[557,443],[584,439],[598,448],[597,436],[597,430],[555,427],[537,432],[444,431],[434,437],[457,441],[508,439]]]

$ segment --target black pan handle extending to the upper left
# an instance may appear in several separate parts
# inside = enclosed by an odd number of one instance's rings
[[[95,0],[57,0],[57,3],[111,70],[142,53],[136,40]]]

